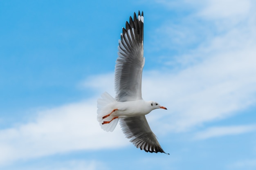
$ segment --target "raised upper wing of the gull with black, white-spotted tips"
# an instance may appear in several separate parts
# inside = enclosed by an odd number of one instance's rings
[[[121,40],[119,40],[118,55],[115,66],[115,91],[119,102],[134,101],[141,97],[141,76],[144,67],[143,57],[143,12],[134,13],[130,23],[126,22]]]

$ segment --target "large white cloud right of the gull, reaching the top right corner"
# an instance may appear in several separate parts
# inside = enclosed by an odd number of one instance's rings
[[[162,49],[168,45],[173,49],[175,40],[180,43],[186,38],[185,44],[191,41],[198,47],[174,59],[166,55],[166,61],[161,63],[167,63],[171,69],[151,71],[146,77],[144,72],[144,96],[158,100],[171,112],[171,115],[148,115],[155,120],[153,126],[165,126],[164,132],[191,130],[207,121],[227,118],[256,103],[256,13],[253,9],[255,4],[251,1],[220,3],[209,0],[198,6],[199,15],[184,18],[194,20],[200,29],[194,26],[180,29],[184,23],[173,26],[168,21],[155,31],[155,36],[164,37],[158,40],[164,44]],[[193,38],[200,34],[205,38]],[[171,40],[173,37],[175,40]],[[175,65],[180,70],[173,70]],[[165,125],[162,120],[161,123],[157,121],[163,117]]]

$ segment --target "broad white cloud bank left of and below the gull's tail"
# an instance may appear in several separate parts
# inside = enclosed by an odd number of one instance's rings
[[[37,114],[34,121],[0,130],[0,165],[16,159],[128,144],[120,128],[112,133],[100,128],[96,99],[41,110]]]

